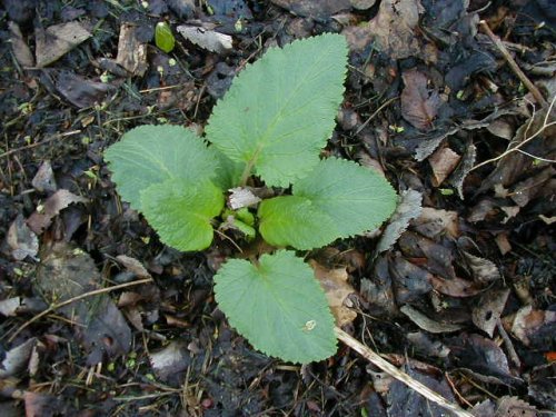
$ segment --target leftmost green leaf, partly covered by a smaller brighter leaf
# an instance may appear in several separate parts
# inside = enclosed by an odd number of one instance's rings
[[[180,126],[146,125],[129,130],[105,151],[118,192],[141,210],[140,192],[169,179],[191,183],[216,176],[219,162],[214,149]]]

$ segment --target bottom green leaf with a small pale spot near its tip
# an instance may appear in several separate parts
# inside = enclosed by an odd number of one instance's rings
[[[257,265],[228,260],[215,282],[219,308],[256,349],[301,364],[336,353],[326,296],[292,251],[262,255]]]

